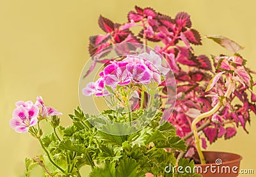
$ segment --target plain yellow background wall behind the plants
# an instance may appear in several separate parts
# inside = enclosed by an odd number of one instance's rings
[[[223,35],[245,46],[241,52],[248,66],[256,70],[255,1],[82,1],[1,0],[0,1],[0,176],[20,176],[24,158],[41,153],[36,139],[17,134],[9,127],[17,100],[41,95],[47,105],[68,113],[79,104],[77,86],[83,65],[89,58],[88,37],[102,33],[100,14],[124,22],[134,5],[151,6],[172,17],[180,11],[191,15],[193,27],[204,35]],[[197,54],[227,53],[215,43],[203,40]],[[90,105],[88,105],[88,109]],[[218,141],[209,150],[243,155],[242,168],[255,167],[256,117],[248,126],[250,134]],[[39,169],[37,169],[39,171]],[[83,171],[86,176],[86,169]],[[38,176],[34,174],[34,176]],[[242,176],[242,175],[241,175]],[[253,175],[244,175],[253,176]]]

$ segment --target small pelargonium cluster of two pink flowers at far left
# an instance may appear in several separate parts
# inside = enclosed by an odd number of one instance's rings
[[[38,118],[44,119],[49,116],[60,115],[53,107],[45,106],[41,96],[37,96],[36,103],[31,101],[19,101],[15,103],[16,108],[10,119],[10,127],[18,133],[26,133],[29,127],[38,123]]]

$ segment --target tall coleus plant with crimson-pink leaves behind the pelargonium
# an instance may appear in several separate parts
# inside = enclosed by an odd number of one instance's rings
[[[177,101],[168,121],[186,140],[186,157],[193,156],[197,149],[204,163],[200,150],[200,141],[202,148],[207,148],[204,137],[212,144],[221,137],[234,137],[238,127],[248,132],[250,112],[256,114],[256,95],[252,92],[255,82],[251,75],[255,72],[245,66],[246,60],[237,53],[243,47],[223,36],[207,36],[234,52],[233,56],[211,56],[211,62],[207,56],[196,55],[193,50],[192,45],[202,45],[202,42],[188,13],[180,12],[172,18],[152,8],[135,6],[127,17],[127,22],[118,24],[100,16],[99,26],[104,34],[90,37],[89,52],[93,56],[116,43],[156,43],[152,47],[164,56],[175,75]],[[133,31],[138,28],[141,30],[135,35]],[[109,65],[107,61],[93,58],[94,63],[86,75],[92,72],[96,63]],[[166,93],[168,86],[165,82],[161,86]],[[180,153],[180,157],[183,155],[184,152]]]

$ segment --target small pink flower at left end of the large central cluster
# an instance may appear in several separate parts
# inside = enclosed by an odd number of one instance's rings
[[[104,79],[100,77],[96,82],[89,82],[86,88],[82,90],[83,95],[90,96],[95,94],[95,96],[106,96],[109,95],[109,91],[104,88]]]

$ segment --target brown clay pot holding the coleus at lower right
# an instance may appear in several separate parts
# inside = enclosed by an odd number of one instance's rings
[[[234,177],[239,174],[241,155],[234,153],[203,151],[207,164],[196,164],[197,172],[204,177]],[[195,155],[198,158],[198,155]],[[201,170],[202,169],[202,170]]]

